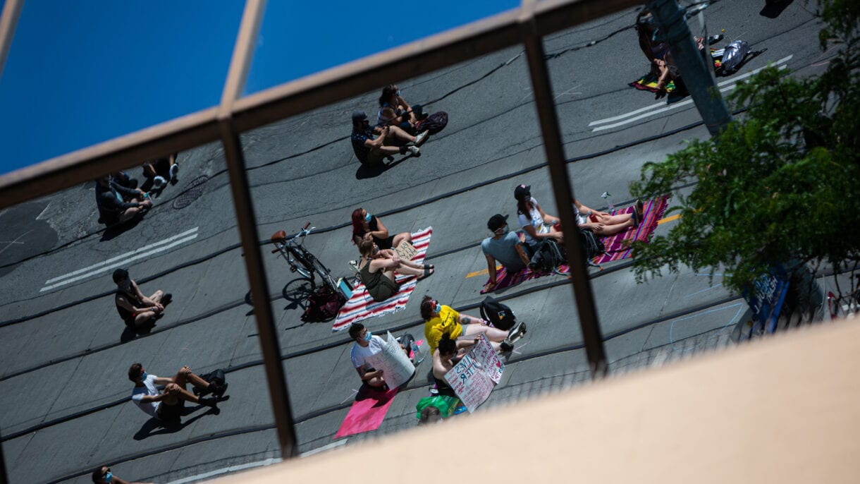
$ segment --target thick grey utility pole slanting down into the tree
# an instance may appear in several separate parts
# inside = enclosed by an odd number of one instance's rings
[[[705,57],[710,62],[710,53],[703,56],[699,52],[686,22],[685,10],[681,9],[677,0],[648,0],[647,5],[660,28],[658,39],[667,42],[673,64],[678,67],[684,84],[690,90],[702,121],[711,136],[716,136],[732,121],[732,115],[720,90],[716,88],[713,71],[705,64]],[[707,49],[708,40],[703,41]]]

